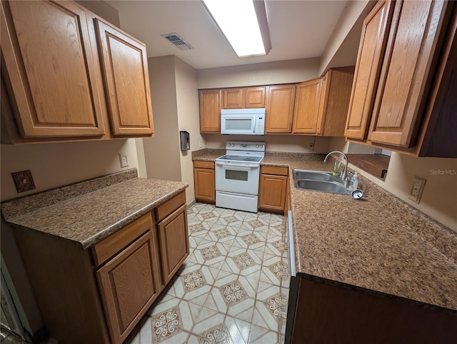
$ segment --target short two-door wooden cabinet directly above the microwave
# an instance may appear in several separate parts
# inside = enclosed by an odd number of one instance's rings
[[[264,108],[265,86],[249,88],[224,88],[222,108]]]

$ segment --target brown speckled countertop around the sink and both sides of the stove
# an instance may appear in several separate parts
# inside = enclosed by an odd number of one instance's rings
[[[358,201],[294,188],[293,168],[331,171],[324,157],[267,152],[261,163],[289,167],[297,275],[457,310],[456,233],[363,176]]]

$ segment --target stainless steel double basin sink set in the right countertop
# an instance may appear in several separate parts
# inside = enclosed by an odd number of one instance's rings
[[[293,169],[292,173],[295,188],[326,193],[339,193],[341,195],[349,195],[351,193],[341,183],[341,179],[334,177],[331,172]]]

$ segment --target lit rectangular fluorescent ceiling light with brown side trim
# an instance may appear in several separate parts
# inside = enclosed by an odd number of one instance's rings
[[[256,0],[202,0],[238,57],[266,55],[271,49],[265,4]],[[256,9],[260,8],[259,13]],[[262,19],[259,25],[258,16]],[[261,33],[261,28],[263,31]],[[265,41],[265,45],[264,45]]]

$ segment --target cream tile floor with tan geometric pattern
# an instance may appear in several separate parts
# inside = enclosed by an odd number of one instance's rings
[[[189,258],[125,343],[283,343],[283,216],[195,203],[188,218]]]

